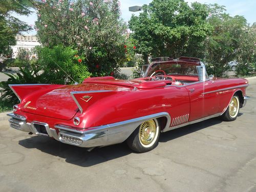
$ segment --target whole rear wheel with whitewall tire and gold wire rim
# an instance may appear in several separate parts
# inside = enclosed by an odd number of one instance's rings
[[[150,119],[141,123],[126,142],[132,150],[144,153],[158,145],[159,135],[160,127],[157,119]]]

